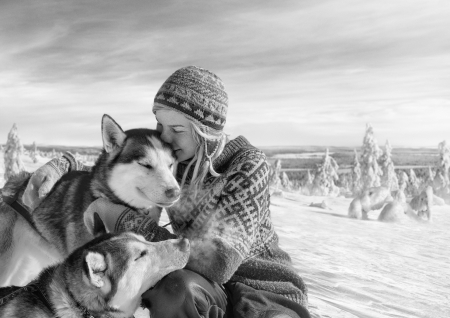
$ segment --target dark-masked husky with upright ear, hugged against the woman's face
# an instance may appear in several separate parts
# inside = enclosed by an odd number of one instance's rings
[[[173,176],[175,156],[157,131],[124,132],[110,116],[104,115],[102,138],[103,151],[92,171],[65,174],[31,211],[37,231],[17,218],[9,205],[0,202],[0,284],[11,283],[6,277],[17,267],[11,261],[22,254],[21,249],[26,247],[23,244],[35,244],[34,249],[42,247],[42,252],[62,260],[92,240],[94,236],[84,224],[83,213],[97,198],[135,210],[155,205],[168,207],[179,199],[180,188]],[[8,181],[3,196],[15,196],[20,203],[28,178],[29,174],[23,174]],[[153,217],[159,219],[159,215]]]

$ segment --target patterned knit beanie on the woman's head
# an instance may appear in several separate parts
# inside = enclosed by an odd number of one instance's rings
[[[165,106],[218,131],[225,126],[228,95],[222,80],[197,66],[183,67],[161,86],[155,106]]]

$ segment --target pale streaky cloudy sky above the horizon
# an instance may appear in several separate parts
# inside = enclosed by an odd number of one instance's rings
[[[225,83],[256,146],[450,142],[450,2],[2,0],[0,143],[100,146],[101,117],[154,128],[178,68]]]

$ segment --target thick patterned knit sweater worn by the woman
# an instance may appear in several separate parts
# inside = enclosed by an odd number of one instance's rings
[[[186,268],[220,284],[240,282],[307,306],[307,287],[278,246],[271,221],[266,156],[239,136],[213,165],[219,177],[208,174],[200,191],[184,191],[167,209],[175,235],[130,209],[121,214],[115,230],[134,231],[149,241],[187,237],[191,256]],[[185,163],[178,164],[178,182],[186,169]]]

